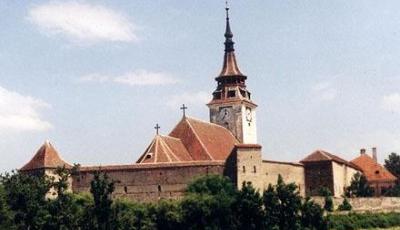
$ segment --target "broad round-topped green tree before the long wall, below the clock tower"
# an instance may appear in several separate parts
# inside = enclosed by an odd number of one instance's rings
[[[189,184],[181,202],[185,229],[230,229],[237,190],[227,177],[209,175]]]

